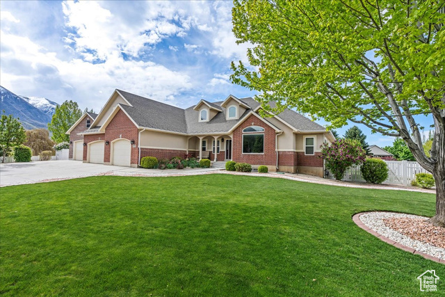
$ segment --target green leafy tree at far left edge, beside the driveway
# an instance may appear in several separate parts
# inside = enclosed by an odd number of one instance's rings
[[[13,115],[5,115],[0,118],[0,147],[2,151],[1,163],[5,163],[6,153],[11,147],[22,145],[26,140],[25,129],[19,119],[13,118]]]

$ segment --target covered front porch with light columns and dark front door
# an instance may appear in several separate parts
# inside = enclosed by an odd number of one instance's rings
[[[232,160],[232,138],[232,134],[190,136],[187,140],[187,154],[212,162]]]

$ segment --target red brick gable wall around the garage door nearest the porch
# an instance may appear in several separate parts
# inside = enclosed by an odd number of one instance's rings
[[[109,141],[109,145],[105,145],[104,162],[110,162],[111,142],[115,139],[126,138],[129,141],[134,141],[131,145],[131,164],[138,164],[138,128],[131,122],[127,115],[122,111],[115,114],[113,120],[105,128],[104,140]]]

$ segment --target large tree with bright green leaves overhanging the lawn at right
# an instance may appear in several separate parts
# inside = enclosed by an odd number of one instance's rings
[[[434,225],[445,226],[444,1],[234,1],[233,31],[250,66],[232,82],[257,90],[265,111],[296,108],[400,137],[436,180]],[[273,108],[268,102],[276,102]],[[415,115],[434,119],[431,154]]]

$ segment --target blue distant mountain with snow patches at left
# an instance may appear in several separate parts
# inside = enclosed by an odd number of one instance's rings
[[[19,118],[25,129],[47,128],[54,115],[56,102],[42,97],[22,97],[0,86],[1,112]]]

